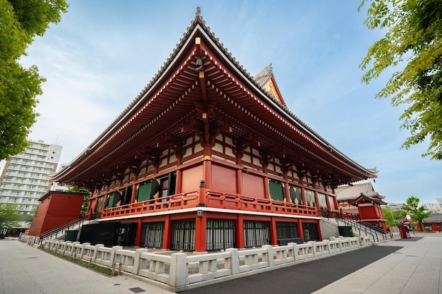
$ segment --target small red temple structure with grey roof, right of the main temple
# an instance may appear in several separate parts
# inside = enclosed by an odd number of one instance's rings
[[[385,198],[374,190],[370,182],[343,185],[335,188],[340,214],[350,219],[357,219],[387,231],[387,219],[382,214],[381,205]]]

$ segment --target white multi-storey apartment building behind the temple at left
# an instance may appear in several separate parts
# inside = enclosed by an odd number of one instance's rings
[[[49,191],[49,174],[56,171],[62,148],[42,140],[28,142],[30,146],[25,152],[0,164],[4,166],[0,176],[0,203],[19,204],[25,215],[32,214],[32,209],[40,204],[40,197]]]

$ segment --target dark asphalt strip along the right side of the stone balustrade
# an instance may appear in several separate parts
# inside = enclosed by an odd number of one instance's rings
[[[266,271],[262,274],[215,283],[181,294],[309,294],[362,267],[386,257],[402,247],[370,246],[340,255],[295,264],[292,267]]]

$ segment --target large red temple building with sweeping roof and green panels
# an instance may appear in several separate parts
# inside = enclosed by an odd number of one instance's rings
[[[335,188],[376,178],[292,114],[196,17],[164,66],[52,180],[88,188],[80,242],[206,252],[322,240]],[[95,238],[95,239],[94,239]]]

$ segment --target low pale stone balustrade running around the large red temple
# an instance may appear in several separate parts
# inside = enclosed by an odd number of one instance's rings
[[[166,250],[149,252],[143,248],[124,250],[121,246],[109,248],[102,244],[59,240],[47,240],[40,246],[103,267],[119,269],[126,276],[177,292],[371,245],[369,238],[330,239],[284,246],[263,245],[246,250],[229,248],[201,255]]]

